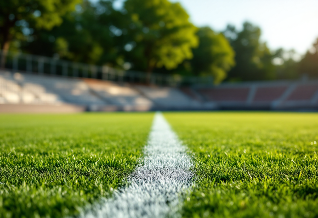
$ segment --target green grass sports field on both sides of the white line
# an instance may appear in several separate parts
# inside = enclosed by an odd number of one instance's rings
[[[183,217],[318,216],[317,114],[163,116],[193,163]],[[153,118],[1,115],[0,217],[67,217],[111,199],[146,163]]]

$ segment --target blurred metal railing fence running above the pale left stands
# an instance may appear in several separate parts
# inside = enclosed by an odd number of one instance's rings
[[[0,51],[0,56],[3,52]],[[211,86],[211,76],[181,76],[152,73],[133,70],[121,70],[108,66],[97,66],[79,62],[70,62],[58,58],[38,55],[8,52],[5,57],[5,69],[22,71],[33,74],[49,74],[65,77],[94,78],[116,82],[129,82],[139,84],[156,84],[160,86],[197,85]]]

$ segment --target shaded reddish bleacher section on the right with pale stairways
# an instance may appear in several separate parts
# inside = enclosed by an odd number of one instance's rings
[[[221,110],[318,110],[318,81],[248,82],[192,89]]]

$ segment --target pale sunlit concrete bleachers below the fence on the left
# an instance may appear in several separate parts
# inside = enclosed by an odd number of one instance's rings
[[[78,105],[89,111],[200,109],[176,88],[133,86],[97,79],[0,72],[0,111],[4,105]]]

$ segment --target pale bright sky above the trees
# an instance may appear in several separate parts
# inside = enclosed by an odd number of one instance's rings
[[[97,1],[97,0],[92,0]],[[318,38],[318,0],[170,0],[180,2],[193,24],[223,31],[249,21],[261,28],[271,50],[280,47],[305,54]],[[117,0],[120,8],[124,0]]]

